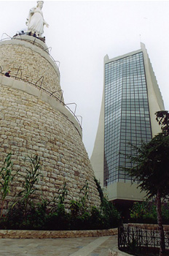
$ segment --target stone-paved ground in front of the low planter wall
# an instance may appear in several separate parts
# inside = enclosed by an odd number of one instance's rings
[[[0,239],[1,256],[108,256],[117,236],[56,239]]]

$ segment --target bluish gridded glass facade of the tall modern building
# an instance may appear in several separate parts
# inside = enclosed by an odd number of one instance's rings
[[[128,142],[141,146],[152,139],[142,52],[105,64],[104,186],[130,177],[119,166],[130,167]],[[122,154],[119,154],[119,151]]]

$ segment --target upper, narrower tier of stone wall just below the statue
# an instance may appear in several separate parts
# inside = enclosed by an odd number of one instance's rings
[[[58,67],[49,54],[37,45],[19,39],[1,41],[0,66],[2,72],[10,69],[11,76],[21,77],[25,83],[36,83],[58,99],[62,98]]]

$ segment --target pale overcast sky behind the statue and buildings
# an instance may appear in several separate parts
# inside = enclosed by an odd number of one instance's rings
[[[0,1],[0,37],[25,30],[36,1]],[[83,142],[92,154],[103,93],[103,58],[140,49],[144,42],[169,110],[169,1],[44,1],[50,54],[60,61],[65,103],[82,116]],[[1,39],[0,38],[0,39]],[[72,105],[72,110],[74,106]]]

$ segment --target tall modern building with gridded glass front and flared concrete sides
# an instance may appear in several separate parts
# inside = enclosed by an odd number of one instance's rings
[[[126,157],[134,154],[131,144],[139,147],[160,132],[154,113],[164,109],[144,44],[124,56],[105,57],[101,115],[90,160],[109,200],[144,197],[120,167],[131,165]]]

